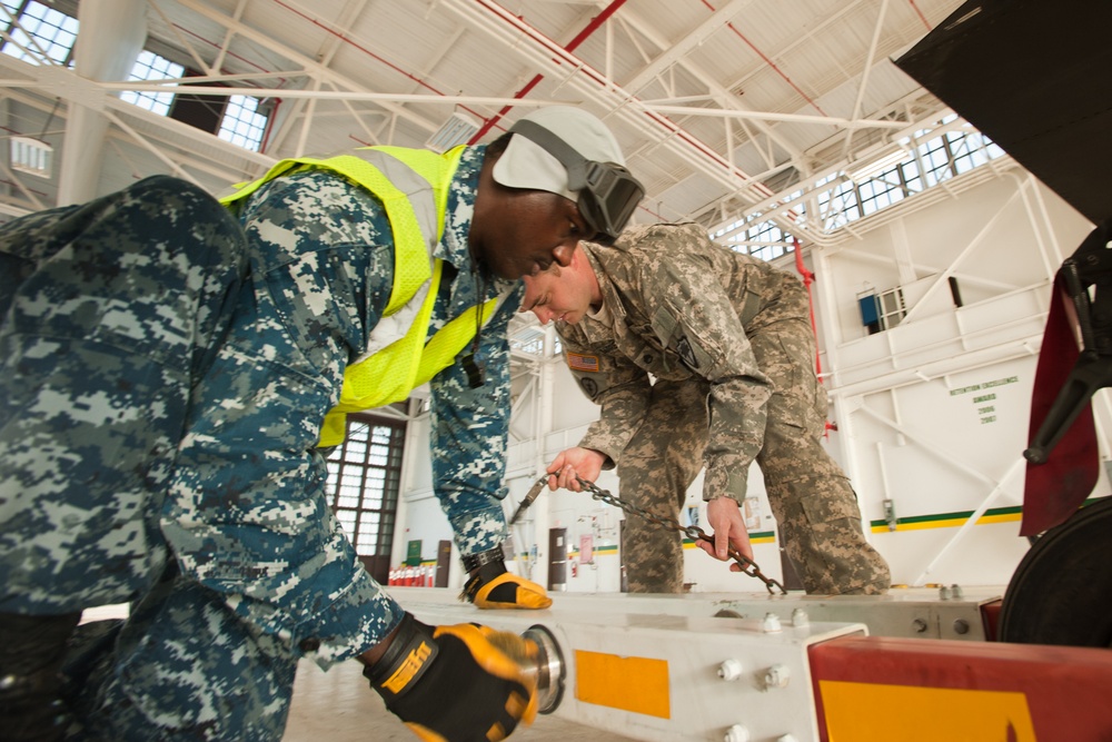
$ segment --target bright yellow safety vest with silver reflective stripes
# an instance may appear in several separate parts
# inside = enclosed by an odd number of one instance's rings
[[[400,147],[365,147],[351,155],[327,159],[291,158],[220,199],[230,206],[294,169],[326,168],[369,190],[386,209],[394,233],[394,285],[383,316],[405,310],[414,318],[404,336],[375,348],[345,369],[340,398],[325,415],[319,446],[335,446],[344,441],[348,413],[401,402],[449,366],[475,337],[476,311],[481,309],[478,321],[485,324],[497,308],[498,298],[486,301],[481,308],[470,307],[425,342],[444,264],[433,257],[433,250],[444,234],[448,184],[463,152],[463,146],[444,155]]]

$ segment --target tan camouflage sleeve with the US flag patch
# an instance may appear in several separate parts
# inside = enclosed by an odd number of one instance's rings
[[[556,329],[563,340],[564,359],[579,389],[602,407],[579,445],[605,454],[603,468],[614,468],[645,416],[652,392],[648,374],[618,353],[588,345],[577,325],[557,323]]]

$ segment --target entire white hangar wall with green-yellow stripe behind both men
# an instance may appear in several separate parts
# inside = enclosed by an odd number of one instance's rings
[[[1091,225],[1019,168],[956,198],[912,206],[896,218],[885,214],[875,222],[856,222],[855,236],[807,254],[817,275],[813,293],[830,419],[837,427],[824,445],[851,477],[866,535],[888,560],[895,583],[1006,584],[1026,550],[1017,535],[1021,454],[1050,285]],[[790,259],[780,267],[794,271]],[[950,293],[951,275],[961,287],[961,308]],[[897,286],[904,289],[906,319],[867,335],[858,293]],[[558,359],[520,374],[515,393],[507,513],[543,466],[575,445],[598,414]],[[1098,425],[1108,429],[1112,415],[1104,393],[1094,408]],[[427,457],[427,429],[414,439]],[[1102,458],[1110,458],[1103,442]],[[427,472],[427,459],[417,461],[399,535],[434,545],[450,534],[429,496]],[[774,522],[755,466],[749,478],[758,498],[751,530],[756,561],[765,574],[782,578]],[[604,473],[598,485],[622,496],[613,473]],[[1094,494],[1109,488],[1102,472]],[[705,525],[701,489],[702,476],[686,506],[699,507]],[[884,523],[885,499],[900,520],[895,531]],[[986,517],[973,525],[971,513]],[[515,551],[524,557],[515,568],[545,583],[548,530],[565,527],[566,590],[612,592],[622,517],[588,495],[545,491],[515,528]],[[681,522],[686,524],[684,515]],[[584,536],[596,553],[589,562],[578,560],[570,576]],[[662,537],[674,536],[662,532]],[[689,546],[684,555],[685,581],[694,591],[764,591],[699,550]]]

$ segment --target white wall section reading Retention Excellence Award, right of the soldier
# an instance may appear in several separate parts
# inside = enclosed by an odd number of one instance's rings
[[[1004,584],[1023,556],[1022,452],[1050,286],[1090,229],[1033,179],[1003,177],[812,255],[835,318],[823,340],[840,461],[866,522],[883,520],[885,498],[902,521],[871,534],[895,582]],[[865,334],[866,285],[905,287],[903,324]],[[1096,493],[1108,491],[1102,474]],[[947,517],[970,513],[995,523]]]

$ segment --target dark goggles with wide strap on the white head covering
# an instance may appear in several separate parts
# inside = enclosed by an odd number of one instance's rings
[[[612,245],[645,196],[645,187],[616,162],[588,160],[558,136],[535,123],[517,121],[509,127],[559,160],[567,170],[568,190],[577,192],[579,215],[595,236],[589,241]]]

